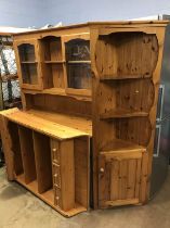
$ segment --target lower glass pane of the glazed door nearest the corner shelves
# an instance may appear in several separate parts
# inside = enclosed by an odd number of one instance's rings
[[[67,64],[68,87],[75,89],[91,88],[91,65],[87,63]]]

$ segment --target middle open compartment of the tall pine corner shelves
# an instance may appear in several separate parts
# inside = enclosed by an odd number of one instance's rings
[[[155,97],[149,78],[101,83],[97,94],[101,119],[148,116]]]

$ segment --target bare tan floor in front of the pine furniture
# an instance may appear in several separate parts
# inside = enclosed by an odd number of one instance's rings
[[[0,168],[0,228],[170,228],[170,174],[161,191],[145,206],[81,213],[65,218]]]

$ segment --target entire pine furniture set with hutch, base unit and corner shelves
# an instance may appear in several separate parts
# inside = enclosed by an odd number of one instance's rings
[[[14,35],[23,110],[0,113],[9,180],[67,217],[146,203],[169,30],[101,22]]]

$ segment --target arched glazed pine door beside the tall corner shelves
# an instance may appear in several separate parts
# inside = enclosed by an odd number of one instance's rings
[[[90,35],[63,36],[66,92],[91,96]]]

